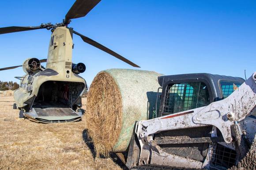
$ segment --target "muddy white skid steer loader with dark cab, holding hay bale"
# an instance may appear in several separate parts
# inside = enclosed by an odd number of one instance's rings
[[[199,73],[158,83],[157,116],[135,123],[124,154],[129,169],[220,170],[241,161],[255,140],[256,72],[246,81]]]

